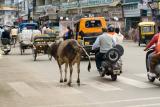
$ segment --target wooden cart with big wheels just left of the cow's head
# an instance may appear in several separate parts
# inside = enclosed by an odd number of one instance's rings
[[[33,59],[36,61],[38,55],[48,54],[49,60],[52,59],[50,55],[50,47],[49,45],[52,44],[56,40],[56,36],[36,36],[33,38]]]

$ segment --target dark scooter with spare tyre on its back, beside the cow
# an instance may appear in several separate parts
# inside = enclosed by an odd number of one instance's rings
[[[101,70],[99,74],[101,77],[105,75],[111,76],[112,81],[117,80],[117,75],[122,73],[121,56],[124,54],[124,49],[121,45],[116,45],[110,49],[103,58],[101,63]]]

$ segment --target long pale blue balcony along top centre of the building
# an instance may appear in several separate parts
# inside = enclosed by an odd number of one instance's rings
[[[96,6],[105,6],[113,3],[113,0],[83,0],[78,2],[62,3],[61,7],[63,9],[75,9],[77,7],[86,8],[86,7],[96,7]]]

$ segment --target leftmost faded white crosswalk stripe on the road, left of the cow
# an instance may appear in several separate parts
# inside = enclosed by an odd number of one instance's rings
[[[8,83],[22,97],[40,96],[40,93],[24,82]]]

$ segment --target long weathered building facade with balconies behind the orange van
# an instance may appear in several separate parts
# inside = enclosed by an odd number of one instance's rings
[[[57,21],[60,17],[77,20],[81,16],[103,16],[113,23],[113,18],[118,17],[124,26],[121,0],[36,0],[35,3],[34,19]]]

